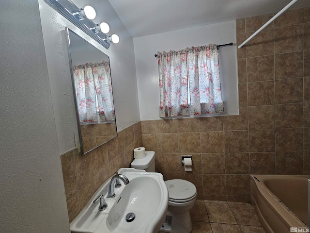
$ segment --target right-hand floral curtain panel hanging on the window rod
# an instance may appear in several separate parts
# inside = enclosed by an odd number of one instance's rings
[[[217,46],[188,49],[190,114],[224,112]]]

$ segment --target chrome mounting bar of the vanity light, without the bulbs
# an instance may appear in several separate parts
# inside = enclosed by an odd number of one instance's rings
[[[100,45],[109,49],[110,43],[108,41],[103,40],[102,38],[106,37],[105,33],[94,33],[90,28],[93,23],[92,20],[88,18],[84,18],[82,20],[78,20],[76,16],[72,14],[75,10],[79,9],[72,1],[70,0],[45,0],[49,5],[51,5],[55,10],[57,10],[63,17],[68,19],[74,25],[76,25],[79,29],[81,29],[84,33],[92,37],[95,41],[97,41]],[[62,4],[65,6],[63,6]]]

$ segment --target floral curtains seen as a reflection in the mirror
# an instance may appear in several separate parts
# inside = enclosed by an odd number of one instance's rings
[[[114,120],[109,63],[73,66],[80,122]]]

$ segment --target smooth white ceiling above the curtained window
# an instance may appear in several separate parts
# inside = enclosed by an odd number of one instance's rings
[[[109,0],[132,37],[278,13],[291,0]],[[298,0],[290,9],[309,7]]]

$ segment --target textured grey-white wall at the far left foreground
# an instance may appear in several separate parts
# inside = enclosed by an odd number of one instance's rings
[[[69,233],[38,1],[0,5],[0,232]]]

